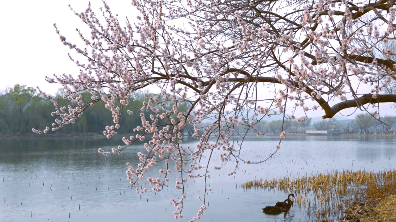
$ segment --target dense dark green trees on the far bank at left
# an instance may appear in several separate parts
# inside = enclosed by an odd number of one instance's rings
[[[90,101],[91,94],[82,92],[80,95],[83,101]],[[121,115],[120,128],[118,133],[132,133],[136,126],[141,126],[142,120],[140,117],[140,110],[143,102],[147,102],[148,97],[159,98],[162,106],[161,111],[172,111],[173,103],[170,100],[162,98],[159,94],[152,94],[150,92],[135,92],[129,98],[129,105],[124,107],[125,113]],[[59,90],[56,93],[59,107],[67,107],[70,104],[67,100],[62,99],[63,92]],[[179,111],[187,111],[191,107],[188,102],[178,103]],[[126,110],[132,111],[132,115],[128,115]],[[55,106],[48,99],[42,98],[36,89],[27,87],[25,85],[15,85],[11,88],[6,88],[0,92],[0,133],[31,133],[32,128],[44,129],[46,126],[51,127],[51,124],[57,118],[51,116],[55,111]],[[151,110],[143,110],[145,118],[150,119],[150,115],[157,114]],[[169,124],[169,120],[161,120],[161,124]],[[61,129],[57,130],[59,133],[101,133],[107,125],[113,123],[111,112],[105,108],[102,101],[89,107],[84,111],[84,115],[78,119],[75,124],[67,124]],[[187,122],[184,134],[192,134],[194,128]],[[135,132],[136,133],[136,132]]]

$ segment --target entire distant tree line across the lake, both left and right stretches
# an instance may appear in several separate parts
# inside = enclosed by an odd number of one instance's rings
[[[80,93],[84,101],[91,99],[91,94],[88,92]],[[141,126],[139,107],[143,102],[147,102],[148,96],[159,98],[161,103],[165,104],[162,109],[172,110],[173,103],[169,100],[164,100],[159,94],[152,94],[146,92],[135,92],[129,98],[129,105],[124,107],[133,112],[133,115],[122,115],[121,121],[123,124],[117,130],[119,133],[132,133],[133,128]],[[60,107],[68,107],[71,105],[67,100],[63,100],[63,92],[59,90],[56,93],[58,104]],[[179,103],[179,111],[187,111],[191,104],[188,102]],[[7,88],[0,92],[0,133],[31,133],[32,128],[43,129],[46,126],[51,126],[56,117],[52,117],[51,113],[55,110],[52,102],[48,99],[42,98],[36,89],[27,87],[25,85],[15,85],[12,88]],[[166,110],[163,110],[166,111]],[[150,119],[150,115],[156,115],[151,110],[143,110],[146,119]],[[192,118],[192,115],[191,115]],[[333,130],[341,131],[344,134],[392,134],[394,131],[385,128],[384,125],[373,118],[369,113],[362,113],[353,120],[328,119],[312,122],[312,118],[305,118],[303,122],[297,120],[261,120],[257,122],[254,128],[249,130],[250,133],[265,132],[278,134],[285,130],[288,133],[305,133],[305,130]],[[377,117],[378,118],[378,117]],[[84,111],[84,115],[75,124],[68,124],[61,128],[59,133],[101,133],[107,125],[112,124],[111,113],[105,108],[105,105],[100,101],[97,105],[89,107]],[[169,124],[166,119],[162,120],[162,124]],[[389,126],[396,124],[396,117],[384,116],[381,121]],[[205,124],[200,124],[204,127]],[[236,126],[235,130],[238,133],[246,132],[246,125]],[[194,128],[187,123],[184,134],[192,135]]]

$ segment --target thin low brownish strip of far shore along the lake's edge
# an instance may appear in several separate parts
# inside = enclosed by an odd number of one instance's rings
[[[135,135],[136,133],[123,133],[116,134],[112,138],[121,139],[122,137],[127,137],[131,135]],[[278,136],[278,134],[267,133],[268,136]],[[247,137],[256,137],[255,134],[249,133],[246,135]],[[341,137],[396,137],[396,134],[292,134],[286,133],[286,137],[288,136],[341,136]],[[261,137],[261,136],[259,136]],[[34,133],[9,133],[9,134],[1,134],[0,139],[106,139],[103,134],[100,133],[49,133],[49,134],[34,134]]]

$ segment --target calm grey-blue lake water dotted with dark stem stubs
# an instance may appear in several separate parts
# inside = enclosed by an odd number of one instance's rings
[[[279,137],[267,136],[248,139],[242,145],[241,157],[261,160],[274,151],[278,141]],[[237,174],[230,177],[227,173],[234,163],[211,171],[208,182],[212,191],[200,221],[307,221],[307,210],[298,205],[286,216],[262,212],[261,208],[286,199],[286,193],[243,190],[239,185],[253,179],[293,178],[332,170],[393,169],[395,144],[392,137],[287,137],[267,162],[240,164]],[[146,151],[142,145],[135,145],[121,156],[106,157],[97,152],[98,148],[109,151],[117,145],[122,145],[122,141],[0,140],[0,221],[175,221],[175,208],[170,201],[180,197],[179,190],[169,186],[160,193],[150,190],[142,196],[137,194],[126,179],[125,164],[137,164],[137,152]],[[220,163],[219,159],[216,154],[212,166]],[[173,164],[170,166],[174,169]],[[161,164],[146,177],[158,177],[159,169]],[[176,176],[170,177],[170,184]],[[203,196],[204,181],[188,179],[187,184],[184,217],[177,221],[191,220],[202,205],[198,196]]]

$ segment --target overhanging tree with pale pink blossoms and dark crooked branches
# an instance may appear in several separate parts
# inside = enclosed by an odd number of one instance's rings
[[[368,105],[396,102],[396,95],[380,93],[384,84],[379,81],[394,76],[392,50],[383,52],[387,59],[367,56],[377,43],[394,38],[395,10],[387,0],[133,0],[139,11],[133,23],[128,18],[120,21],[103,4],[99,17],[91,5],[82,13],[74,12],[90,29],[77,30],[85,45],[69,42],[54,24],[61,42],[76,52],[70,58],[81,71],[46,77],[49,83],[62,84],[65,99],[74,105],[59,107],[55,98],[42,92],[57,106],[53,115],[59,116],[43,132],[74,123],[84,110],[103,101],[112,112],[113,123],[104,129],[111,137],[123,124],[120,116],[133,115],[124,109],[133,92],[149,86],[162,89],[163,99],[173,103],[171,109],[148,96],[141,110],[156,115],[150,119],[141,115],[138,134],[123,139],[125,147],[147,141],[147,153],[139,153],[141,164],[134,168],[128,163],[126,174],[138,192],[146,192],[147,188],[139,188],[139,180],[166,159],[166,169],[160,171],[165,177],[148,182],[159,192],[170,183],[171,171],[179,174],[175,187],[181,199],[174,201],[175,218],[182,217],[186,183],[196,177],[206,181],[212,169],[222,167],[210,165],[213,158],[236,162],[236,170],[238,164],[264,162],[279,150],[280,145],[274,146],[267,159],[244,159],[240,144],[233,143],[244,135],[234,126],[249,130],[260,121],[260,114],[284,115],[287,103],[304,111],[323,109],[323,119],[328,119],[346,108],[367,111]],[[90,102],[77,96],[81,91],[92,94]],[[308,105],[309,100],[316,105]],[[183,113],[178,104],[185,102],[191,106]],[[171,124],[163,125],[164,119]],[[199,129],[204,119],[211,124]],[[198,138],[193,148],[181,142],[187,122],[194,125],[193,136]],[[142,135],[146,132],[150,138]],[[285,134],[283,129],[280,140]],[[99,152],[120,154],[125,147]],[[205,162],[200,161],[204,156]],[[193,220],[206,209],[206,195],[202,200]]]

